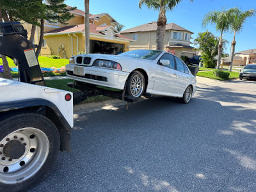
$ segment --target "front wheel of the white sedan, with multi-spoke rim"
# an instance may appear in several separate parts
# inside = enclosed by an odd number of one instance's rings
[[[140,98],[145,90],[145,77],[137,70],[127,79],[126,93],[131,97]]]

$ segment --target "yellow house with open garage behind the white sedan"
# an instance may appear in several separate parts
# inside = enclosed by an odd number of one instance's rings
[[[65,26],[45,20],[44,42],[40,52],[41,56],[59,55],[61,58],[70,58],[84,48],[84,12],[72,10],[74,17],[68,20]],[[90,14],[90,52],[116,54],[129,51],[129,44],[133,40],[121,35],[115,26],[118,22],[108,13],[98,15]],[[24,24],[30,36],[31,24]],[[34,44],[38,44],[40,28],[36,27]]]

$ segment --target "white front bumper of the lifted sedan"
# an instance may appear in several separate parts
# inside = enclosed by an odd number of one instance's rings
[[[128,72],[100,67],[83,67],[85,75],[77,76],[73,74],[74,67],[75,65],[66,66],[68,78],[84,83],[115,88],[118,90],[124,90],[126,79],[129,76]]]

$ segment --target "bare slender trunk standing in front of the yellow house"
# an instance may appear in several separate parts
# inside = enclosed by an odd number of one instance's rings
[[[85,53],[90,53],[90,14],[89,14],[89,0],[84,0],[84,47]]]

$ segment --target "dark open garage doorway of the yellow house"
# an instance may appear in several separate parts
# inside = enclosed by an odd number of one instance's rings
[[[124,44],[90,40],[90,53],[120,54],[121,52],[124,52]]]

